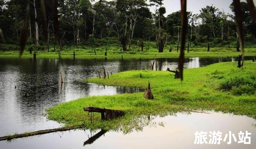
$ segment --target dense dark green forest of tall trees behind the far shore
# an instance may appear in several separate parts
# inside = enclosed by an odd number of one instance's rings
[[[55,44],[53,1],[44,0],[47,33],[44,33],[41,0],[0,0],[1,42],[18,44],[29,5],[27,44]],[[156,42],[159,52],[168,45],[179,48],[181,34],[180,11],[166,14],[163,0],[60,0],[58,2],[59,36],[62,45],[120,44],[128,51],[133,44]],[[256,23],[247,3],[241,2],[245,45],[256,43]],[[205,6],[198,14],[187,12],[186,40],[193,47],[236,47],[239,36],[233,14],[215,6]],[[44,37],[47,34],[47,38]]]

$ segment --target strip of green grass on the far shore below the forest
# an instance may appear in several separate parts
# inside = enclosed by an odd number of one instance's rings
[[[73,58],[73,51],[76,53],[76,58],[104,58],[105,50],[102,48],[94,49],[68,49],[61,52],[62,58]],[[186,53],[186,57],[237,57],[241,52],[236,52],[236,49],[228,48],[212,48],[210,52],[206,52],[206,48],[191,48],[189,53]],[[108,58],[154,58],[156,55],[157,58],[168,58],[168,57],[179,57],[179,52],[172,51],[169,52],[167,49],[163,53],[158,53],[157,49],[150,49],[149,51],[144,52],[122,52],[114,48],[109,49]],[[256,49],[245,49],[245,56],[256,56]],[[0,57],[19,57],[19,51],[6,51],[0,52]],[[23,53],[23,57],[32,58],[33,54],[29,54],[26,50]],[[38,51],[37,57],[41,58],[58,58],[58,52],[47,51]]]

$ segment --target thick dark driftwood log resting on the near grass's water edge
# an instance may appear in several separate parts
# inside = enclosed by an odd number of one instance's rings
[[[125,112],[123,112],[121,110],[97,108],[97,107],[93,107],[93,106],[84,107],[84,111],[101,113],[102,120],[111,120],[114,117],[119,117],[119,116],[125,115]]]

